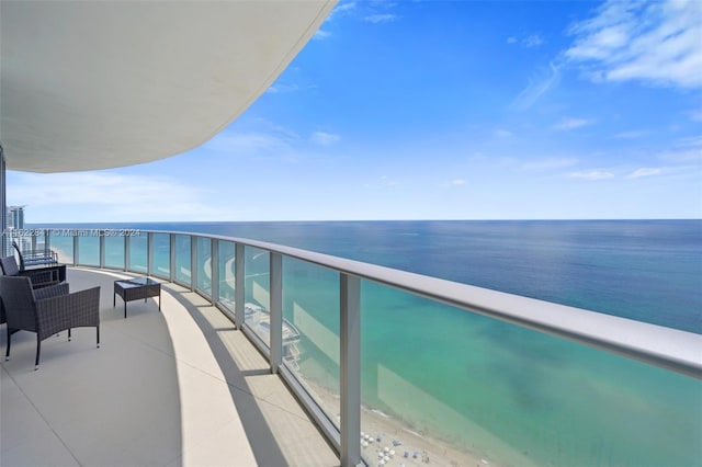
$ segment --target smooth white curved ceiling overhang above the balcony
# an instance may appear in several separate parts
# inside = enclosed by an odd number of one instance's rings
[[[271,86],[335,4],[2,0],[7,167],[106,169],[197,147]]]

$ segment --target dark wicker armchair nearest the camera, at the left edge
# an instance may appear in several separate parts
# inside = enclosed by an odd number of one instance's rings
[[[39,365],[42,341],[71,328],[94,327],[100,348],[100,287],[68,293],[68,284],[32,288],[29,277],[0,276],[0,297],[8,321],[8,348],[10,360],[11,337],[18,331],[36,332],[35,369]]]

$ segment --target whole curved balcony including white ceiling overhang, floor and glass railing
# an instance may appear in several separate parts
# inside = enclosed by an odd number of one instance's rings
[[[335,4],[0,2],[0,205],[5,159],[115,168],[208,140]],[[702,458],[699,334],[259,241],[114,234],[24,239],[75,266],[75,289],[102,285],[102,348],[55,337],[34,372],[33,335],[15,335],[1,465]],[[125,275],[162,281],[162,311],[124,319]]]

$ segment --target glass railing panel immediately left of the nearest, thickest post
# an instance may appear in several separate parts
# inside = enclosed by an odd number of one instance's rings
[[[339,273],[283,258],[283,364],[339,428]]]

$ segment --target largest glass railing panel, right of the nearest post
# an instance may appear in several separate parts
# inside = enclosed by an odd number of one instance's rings
[[[702,458],[702,383],[693,378],[367,281],[361,321],[370,465]]]

